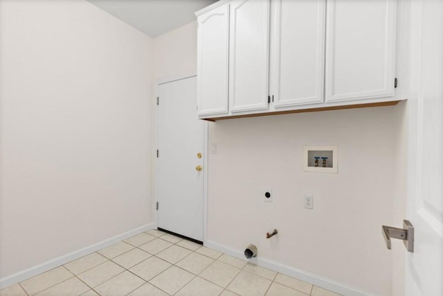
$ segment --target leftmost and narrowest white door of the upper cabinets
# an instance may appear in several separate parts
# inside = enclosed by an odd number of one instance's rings
[[[228,113],[229,4],[198,17],[197,105],[200,117]]]

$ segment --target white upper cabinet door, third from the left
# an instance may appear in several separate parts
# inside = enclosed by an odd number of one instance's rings
[[[323,102],[325,0],[273,1],[271,94],[275,107]]]

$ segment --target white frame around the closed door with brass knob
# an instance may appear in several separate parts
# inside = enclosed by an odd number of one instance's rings
[[[158,179],[158,171],[159,166],[157,165],[157,157],[156,157],[156,150],[159,147],[159,110],[156,105],[156,98],[159,96],[159,86],[163,85],[168,82],[174,82],[178,80],[183,80],[186,78],[192,78],[197,77],[197,72],[189,72],[189,73],[183,73],[181,75],[177,76],[170,76],[167,78],[160,78],[156,79],[155,81],[155,87],[154,87],[154,99],[152,100],[152,105],[154,106],[154,141],[152,143],[152,217],[153,217],[153,224],[155,225],[155,228],[158,228],[159,226],[159,217],[158,217],[158,211],[156,210],[156,202],[159,201],[159,193],[157,185],[159,182]],[[195,98],[195,105],[197,106],[197,97]],[[195,119],[197,119],[197,109],[195,111]],[[199,119],[201,120],[201,119]],[[203,134],[203,243],[206,245],[206,239],[207,239],[207,225],[208,225],[208,121],[204,121],[204,134]]]

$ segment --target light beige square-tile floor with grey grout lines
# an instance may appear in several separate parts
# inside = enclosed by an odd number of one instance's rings
[[[0,290],[0,296],[338,296],[157,230]]]

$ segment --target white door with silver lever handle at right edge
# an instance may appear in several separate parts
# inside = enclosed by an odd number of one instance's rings
[[[443,295],[443,1],[411,1],[406,295]]]

